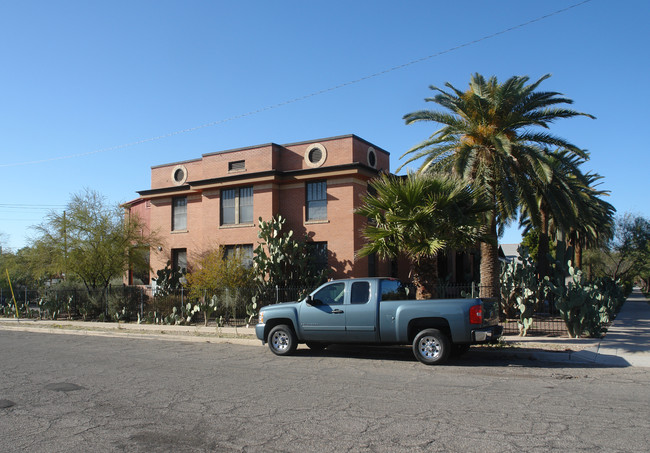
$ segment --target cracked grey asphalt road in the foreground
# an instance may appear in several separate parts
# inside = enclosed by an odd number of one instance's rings
[[[0,331],[0,451],[647,451],[650,369]]]

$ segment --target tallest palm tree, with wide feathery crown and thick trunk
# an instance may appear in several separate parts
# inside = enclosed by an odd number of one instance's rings
[[[498,231],[516,216],[520,205],[537,215],[532,181],[548,181],[550,175],[544,149],[559,147],[586,157],[577,146],[539,130],[561,118],[593,118],[561,107],[573,103],[561,93],[535,91],[549,77],[527,84],[528,77],[514,76],[498,83],[496,77],[486,80],[475,74],[466,91],[450,83],[445,85],[449,92],[430,87],[437,94],[426,101],[446,111],[420,110],[404,116],[406,124],[442,125],[402,156],[410,156],[404,165],[424,159],[421,172],[446,170],[461,176],[482,188],[484,201],[491,206],[484,219],[491,240],[481,243],[483,297],[499,294]]]

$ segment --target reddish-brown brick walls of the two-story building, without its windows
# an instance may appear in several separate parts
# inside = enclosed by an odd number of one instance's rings
[[[305,151],[314,143],[320,143],[327,150],[323,167],[331,167],[352,162],[367,165],[368,147],[373,146],[377,157],[377,169],[389,169],[388,153],[355,136],[322,139],[314,142],[295,143],[285,146],[263,145],[221,153],[206,154],[201,159],[162,165],[152,168],[151,188],[164,189],[176,187],[172,171],[177,165],[187,169],[187,181],[197,181],[225,177],[233,174],[254,177],[256,173],[272,169],[280,171],[310,168],[304,159]],[[228,163],[244,160],[244,172],[228,172]],[[327,180],[327,221],[305,222],[305,184],[307,181]],[[238,182],[240,185],[250,183]],[[223,186],[225,187],[225,186]],[[227,187],[234,187],[229,185]],[[367,176],[305,174],[294,180],[268,179],[253,183],[254,225],[220,226],[220,188],[201,189],[196,186],[194,193],[188,195],[187,230],[171,231],[171,196],[153,198],[149,210],[152,230],[158,231],[164,239],[163,250],[154,250],[151,264],[154,270],[161,269],[171,258],[171,250],[185,248],[191,264],[196,257],[218,245],[253,244],[258,242],[258,218],[268,220],[275,214],[287,219],[286,228],[292,229],[297,239],[308,234],[316,242],[327,242],[329,265],[333,277],[363,277],[368,275],[367,258],[355,261],[355,252],[361,248],[363,238],[361,229],[365,219],[354,214],[366,192]],[[141,209],[137,207],[134,209]],[[390,263],[377,261],[378,275],[389,275]]]

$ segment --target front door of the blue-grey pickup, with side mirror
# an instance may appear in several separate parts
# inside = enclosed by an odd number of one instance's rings
[[[300,308],[300,327],[305,341],[345,341],[345,283],[323,286],[313,295],[314,305]]]

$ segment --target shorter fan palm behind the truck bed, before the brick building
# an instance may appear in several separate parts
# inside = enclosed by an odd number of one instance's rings
[[[482,214],[489,206],[477,201],[476,189],[450,175],[382,175],[370,183],[373,193],[356,210],[368,218],[367,243],[358,256],[377,254],[393,259],[405,255],[418,299],[435,295],[437,254],[463,247],[482,237]]]

